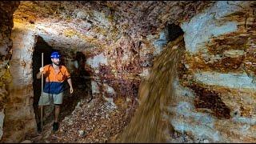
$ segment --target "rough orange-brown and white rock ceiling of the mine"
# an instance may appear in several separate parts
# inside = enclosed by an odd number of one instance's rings
[[[214,2],[22,1],[14,23],[33,27],[54,47],[105,47],[123,34],[138,40],[170,23],[188,21]]]

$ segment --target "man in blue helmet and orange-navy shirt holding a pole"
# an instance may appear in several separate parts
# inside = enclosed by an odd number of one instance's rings
[[[46,83],[42,95],[38,102],[38,110],[41,106],[46,106],[54,103],[54,132],[58,130],[58,115],[60,113],[60,106],[63,102],[64,82],[67,80],[70,85],[70,94],[73,93],[73,86],[70,78],[70,73],[65,66],[60,65],[60,54],[53,52],[50,55],[52,64],[41,67],[37,74],[37,78],[41,78],[43,74],[46,77]],[[41,125],[39,122],[38,131],[41,132]]]

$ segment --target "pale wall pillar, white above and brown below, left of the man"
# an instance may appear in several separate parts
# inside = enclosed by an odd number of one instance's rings
[[[37,37],[24,25],[14,24],[10,38],[13,41],[10,74],[12,82],[6,101],[6,118],[2,142],[20,142],[26,134],[36,132],[33,107],[32,55]]]

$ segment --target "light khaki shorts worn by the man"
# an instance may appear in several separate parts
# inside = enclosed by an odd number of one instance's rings
[[[52,105],[52,104],[62,104],[63,102],[63,92],[60,94],[48,94],[43,92],[39,99],[38,106]]]

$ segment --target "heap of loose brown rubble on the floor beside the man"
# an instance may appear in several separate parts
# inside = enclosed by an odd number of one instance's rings
[[[26,139],[30,140],[27,142],[108,142],[130,122],[134,106],[127,102],[126,104],[113,106],[101,97],[91,99],[89,94],[77,103],[71,114],[66,115],[68,110],[63,111],[66,108],[62,108],[58,132],[54,134],[52,131],[53,117],[51,117],[44,126],[42,134],[27,136]],[[66,106],[70,105],[71,103]]]

